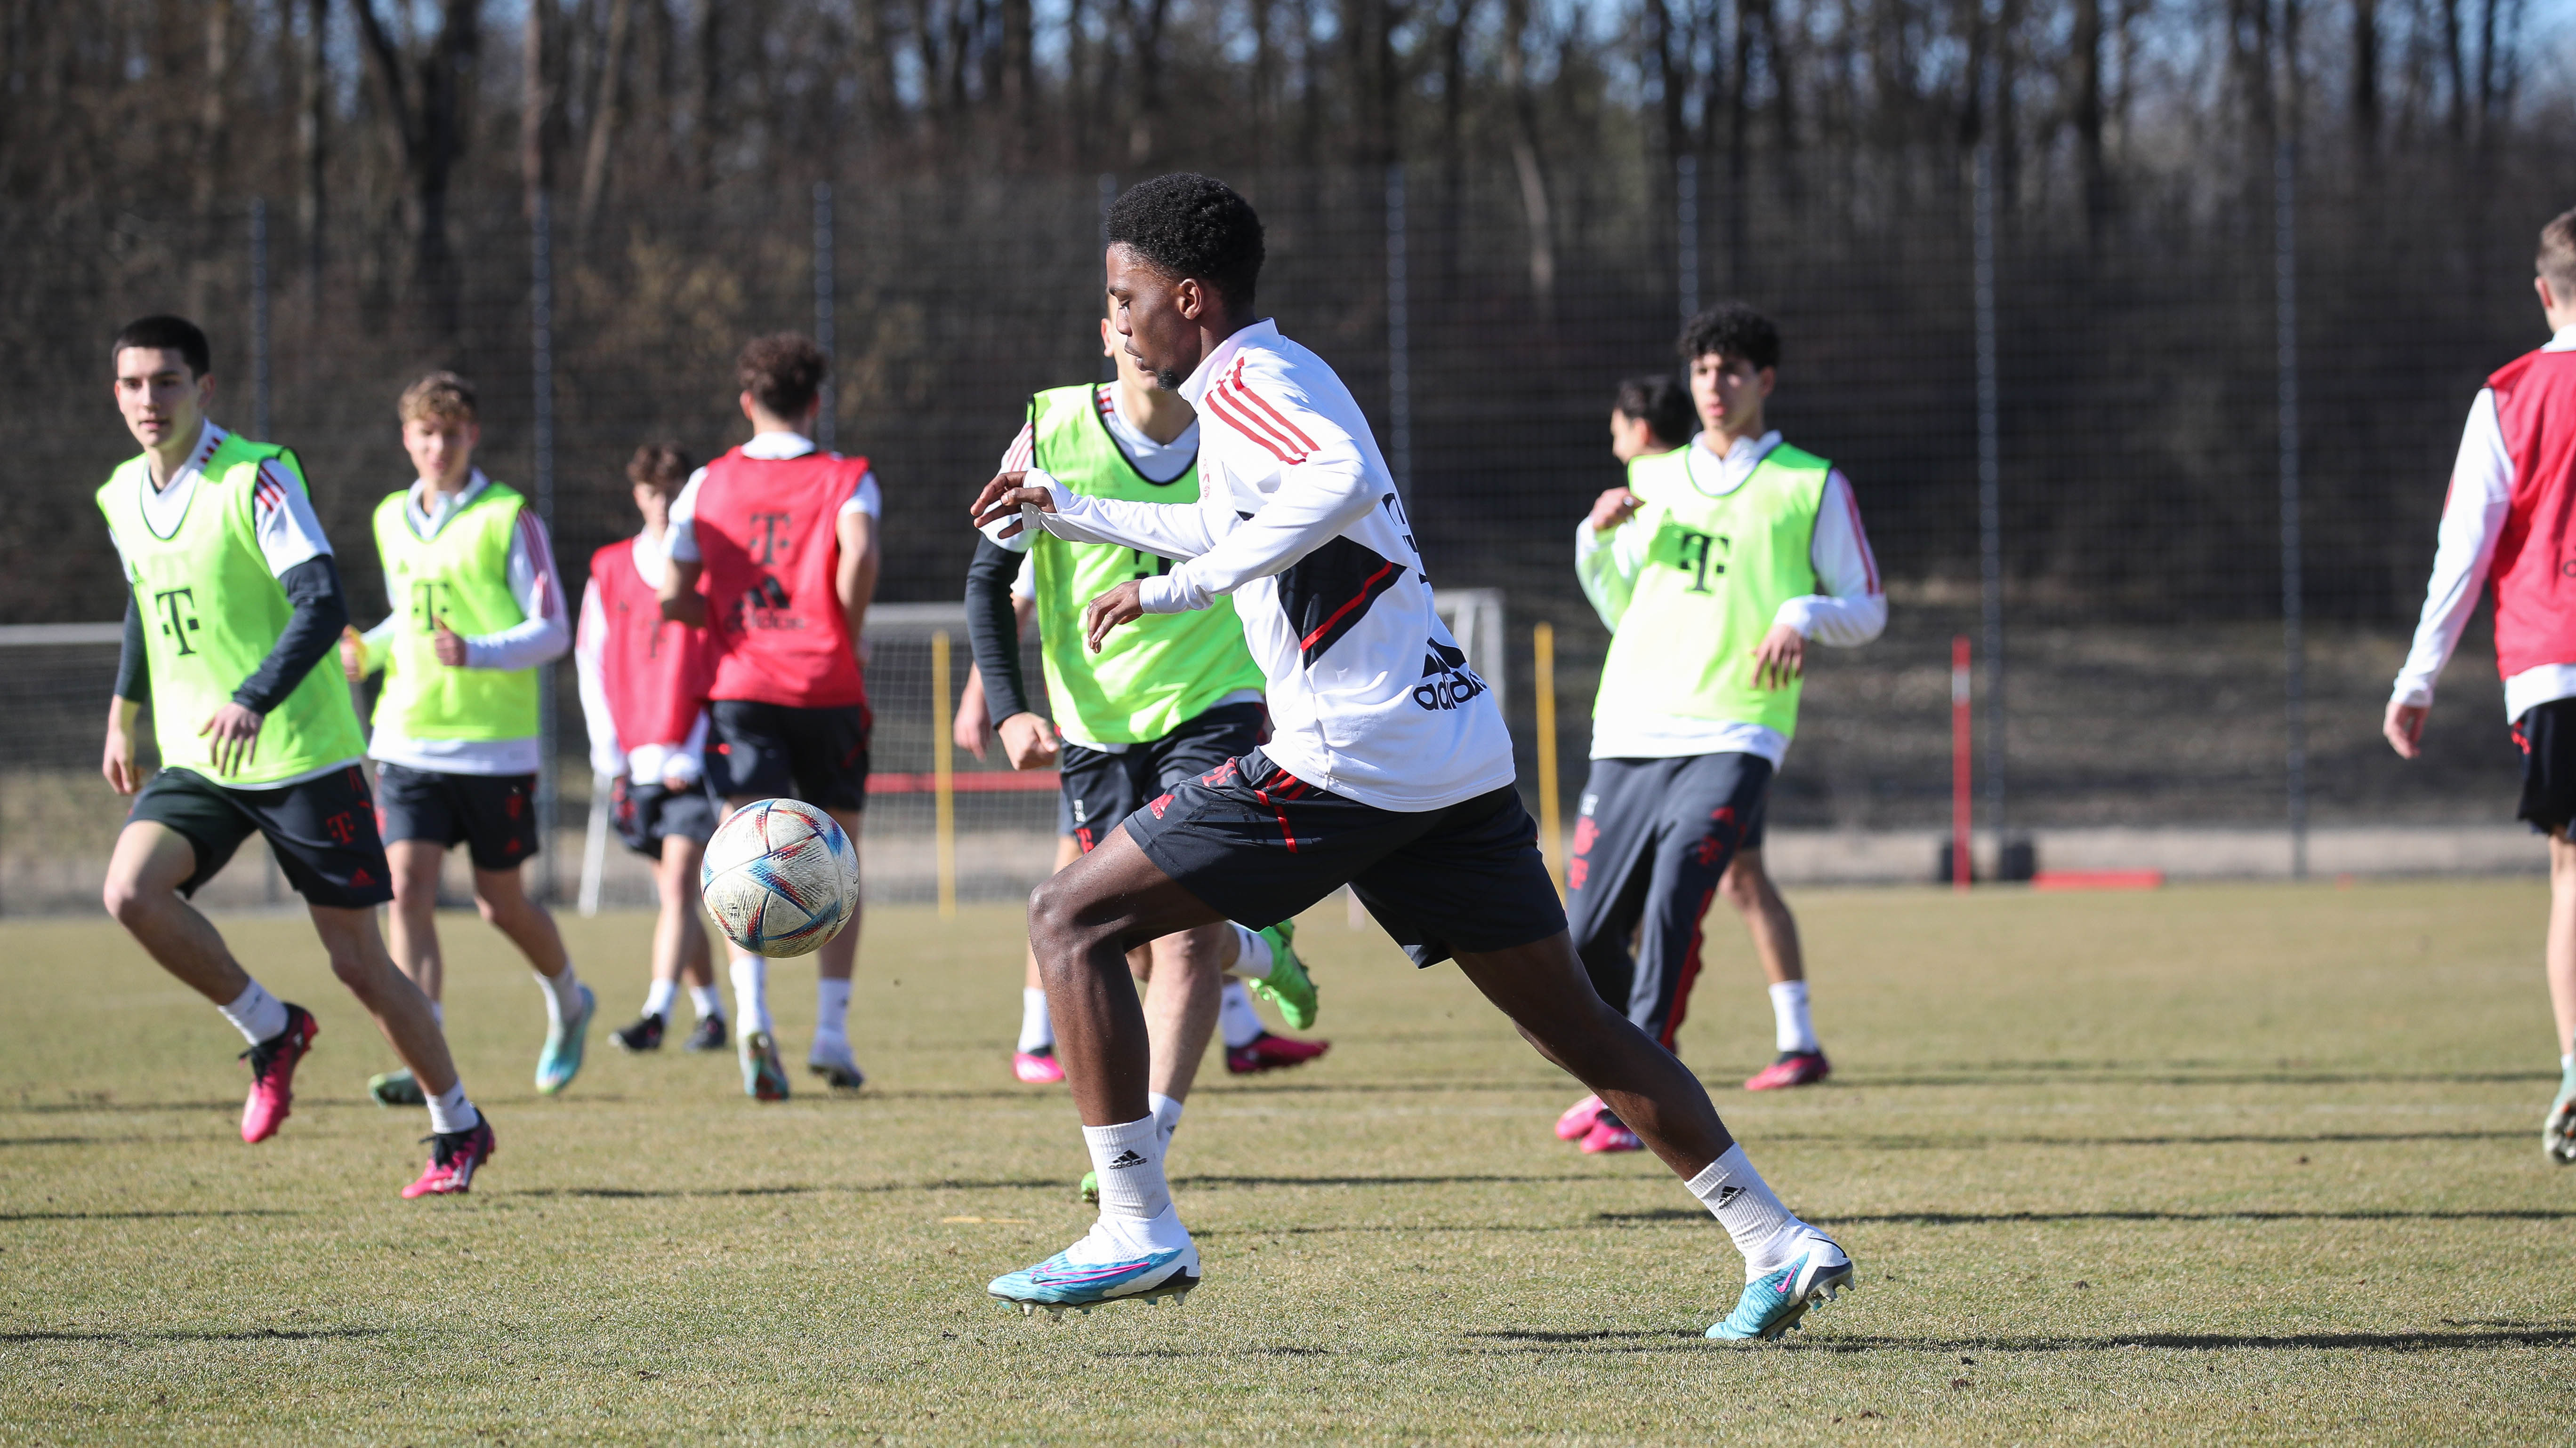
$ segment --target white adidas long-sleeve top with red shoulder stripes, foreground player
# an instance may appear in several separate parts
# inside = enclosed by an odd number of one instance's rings
[[[1195,505],[1082,497],[1030,472],[1056,510],[1023,518],[1182,559],[1144,580],[1146,613],[1231,593],[1270,685],[1262,752],[1283,770],[1396,812],[1512,783],[1502,709],[1432,613],[1394,474],[1342,379],[1255,322],[1180,392],[1200,417]]]

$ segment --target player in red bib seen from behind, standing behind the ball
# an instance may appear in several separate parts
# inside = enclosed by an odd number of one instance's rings
[[[829,358],[811,338],[755,338],[737,374],[752,441],[698,469],[672,502],[662,618],[703,626],[716,649],[708,685],[716,750],[706,778],[724,809],[801,799],[829,812],[855,850],[858,814],[868,806],[858,639],[876,598],[876,520],[886,505],[868,459],[814,446]],[[835,1090],[858,1090],[866,1074],[850,1059],[855,907],[814,961],[806,1069]],[[742,1090],[786,1100],[768,961],[737,946],[732,976]]]

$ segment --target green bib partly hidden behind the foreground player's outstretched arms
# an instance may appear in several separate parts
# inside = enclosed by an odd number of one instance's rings
[[[1100,417],[1097,389],[1056,386],[1028,402],[1036,464],[1064,487],[1126,502],[1198,502],[1198,466],[1172,482],[1149,482],[1118,451]],[[1041,533],[1030,544],[1038,585],[1038,634],[1046,693],[1056,724],[1095,745],[1162,739],[1206,714],[1218,698],[1262,688],[1262,667],[1244,647],[1234,600],[1188,613],[1146,613],[1113,629],[1095,654],[1082,642],[1082,608],[1133,577],[1170,572],[1172,562],[1115,544],[1069,544]]]

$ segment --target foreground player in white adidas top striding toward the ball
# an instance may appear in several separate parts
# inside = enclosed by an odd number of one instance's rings
[[[1061,1311],[1198,1286],[1146,1108],[1126,951],[1216,920],[1288,920],[1350,884],[1417,964],[1455,958],[1716,1214],[1747,1283],[1710,1335],[1788,1329],[1850,1286],[1852,1260],[1780,1206],[1700,1082],[1584,976],[1512,783],[1502,709],[1432,611],[1368,420],[1321,358],[1255,312],[1252,206],[1203,175],[1164,175],[1110,206],[1108,242],[1123,348],[1211,420],[1198,505],[1084,497],[1028,472],[984,484],[976,523],[1018,513],[1059,538],[1185,559],[1095,598],[1082,618],[1095,649],[1146,613],[1236,595],[1275,734],[1149,799],[1030,897],[1100,1221],[994,1278],[992,1296]]]

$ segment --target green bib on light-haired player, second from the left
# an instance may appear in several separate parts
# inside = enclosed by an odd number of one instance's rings
[[[526,624],[510,595],[510,531],[526,500],[487,482],[435,536],[412,533],[410,490],[376,505],[376,554],[399,600],[384,660],[376,724],[404,739],[533,739],[536,670],[464,670],[438,662],[438,621],[477,636]]]

